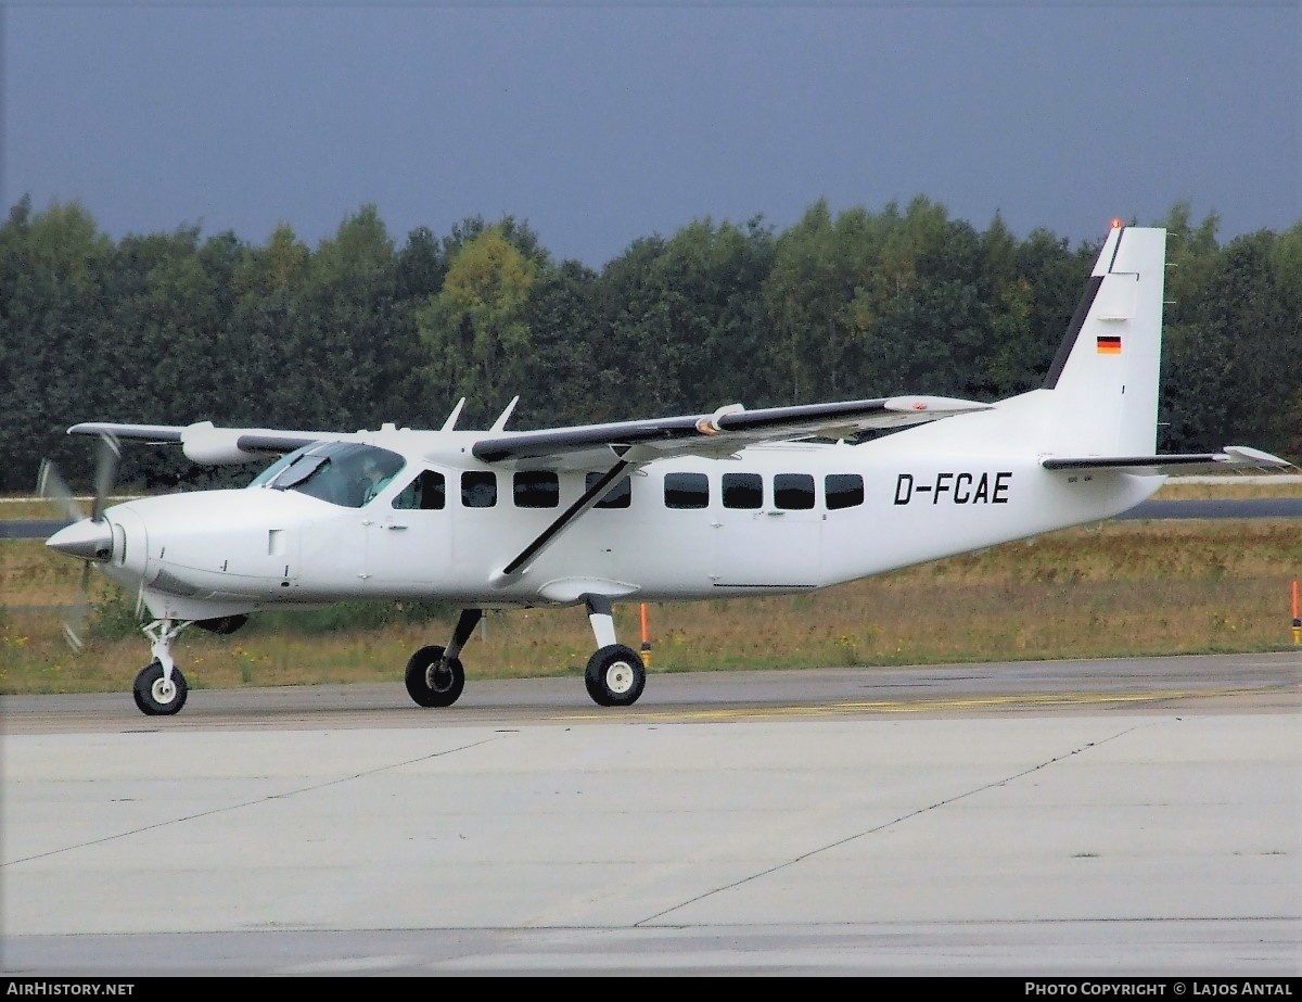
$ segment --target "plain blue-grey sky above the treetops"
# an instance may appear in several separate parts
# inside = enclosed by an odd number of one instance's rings
[[[525,220],[599,267],[693,219],[917,194],[1096,240],[1302,219],[1298,3],[10,3],[5,206],[115,237]]]

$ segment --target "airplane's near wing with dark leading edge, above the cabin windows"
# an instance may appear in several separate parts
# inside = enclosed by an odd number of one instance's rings
[[[732,404],[711,414],[509,431],[479,439],[471,451],[482,463],[546,460],[548,465],[581,468],[618,457],[642,464],[671,455],[727,456],[763,442],[848,438],[868,429],[917,425],[990,407],[941,396],[896,396],[759,410]]]

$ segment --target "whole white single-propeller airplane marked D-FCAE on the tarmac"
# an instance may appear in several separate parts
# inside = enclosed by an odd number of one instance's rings
[[[992,404],[897,396],[508,431],[277,431],[83,423],[103,438],[91,517],[48,541],[152,614],[146,714],[186,700],[172,642],[250,612],[349,598],[462,608],[447,646],[406,666],[421,706],[450,706],[484,608],[583,606],[592,701],[642,694],[616,640],[621,601],[805,592],[1118,515],[1172,469],[1284,466],[1245,447],[1155,455],[1165,231],[1116,225],[1040,388]],[[462,401],[465,403],[465,401]],[[514,401],[513,401],[514,403]],[[854,444],[868,429],[901,429]],[[117,440],[197,463],[279,455],[242,490],[104,507]],[[57,474],[43,472],[43,493]],[[87,567],[90,565],[87,563]]]

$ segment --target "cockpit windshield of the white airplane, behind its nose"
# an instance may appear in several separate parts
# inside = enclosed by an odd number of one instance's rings
[[[249,486],[294,490],[344,508],[361,508],[404,465],[402,456],[387,448],[359,442],[318,442],[281,456]]]

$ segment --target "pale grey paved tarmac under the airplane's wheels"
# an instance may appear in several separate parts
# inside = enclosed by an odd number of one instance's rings
[[[3,971],[1302,975],[1302,650],[4,697]]]

